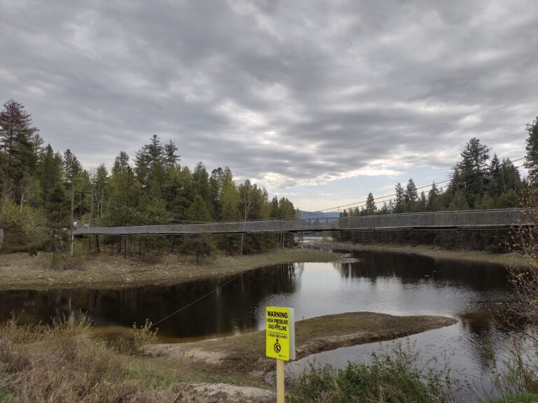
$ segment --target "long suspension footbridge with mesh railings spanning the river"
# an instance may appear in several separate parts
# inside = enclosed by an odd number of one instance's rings
[[[362,217],[205,222],[198,224],[139,225],[136,227],[81,227],[75,236],[142,234],[267,234],[321,231],[408,231],[443,229],[506,229],[527,227],[532,220],[521,208],[499,210],[436,211],[365,215]]]

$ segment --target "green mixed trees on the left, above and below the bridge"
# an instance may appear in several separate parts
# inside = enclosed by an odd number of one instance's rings
[[[77,225],[124,226],[290,218],[294,204],[269,199],[265,188],[238,183],[228,168],[210,173],[202,162],[180,164],[176,144],[153,135],[131,158],[121,151],[111,169],[83,168],[71,150],[53,150],[17,101],[0,112],[0,248],[67,248],[71,210]],[[71,208],[72,206],[72,208]],[[95,237],[86,248],[149,255],[182,251],[207,255],[258,253],[294,242],[289,234]],[[80,245],[79,245],[80,247]]]

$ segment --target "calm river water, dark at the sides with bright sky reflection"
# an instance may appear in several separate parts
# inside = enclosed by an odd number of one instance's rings
[[[158,325],[163,339],[186,341],[263,329],[267,305],[293,306],[296,320],[329,313],[373,311],[393,315],[441,315],[456,325],[411,337],[421,356],[445,351],[450,366],[490,389],[490,356],[509,336],[493,320],[511,301],[504,267],[476,262],[433,260],[395,253],[361,252],[352,264],[284,264],[247,272],[218,292]],[[52,290],[0,292],[0,320],[11,311],[25,320],[48,321],[56,311],[87,311],[111,333],[132,323],[153,322],[214,290],[224,281],[198,281],[167,287],[120,290]],[[368,360],[379,344],[339,348],[315,355],[319,363],[343,366]],[[312,358],[308,358],[311,360]],[[289,369],[300,371],[305,360]],[[460,394],[461,400],[468,395]]]

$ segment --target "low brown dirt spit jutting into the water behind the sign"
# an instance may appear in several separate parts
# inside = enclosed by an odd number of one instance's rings
[[[319,316],[296,323],[296,358],[344,346],[396,339],[454,323],[457,320],[441,316],[391,316],[372,312]],[[185,344],[159,344],[149,346],[149,352],[166,360],[181,357],[181,365],[207,374],[241,374],[251,381],[262,380],[275,365],[274,360],[265,358],[265,331]],[[208,357],[219,359],[209,362]]]

